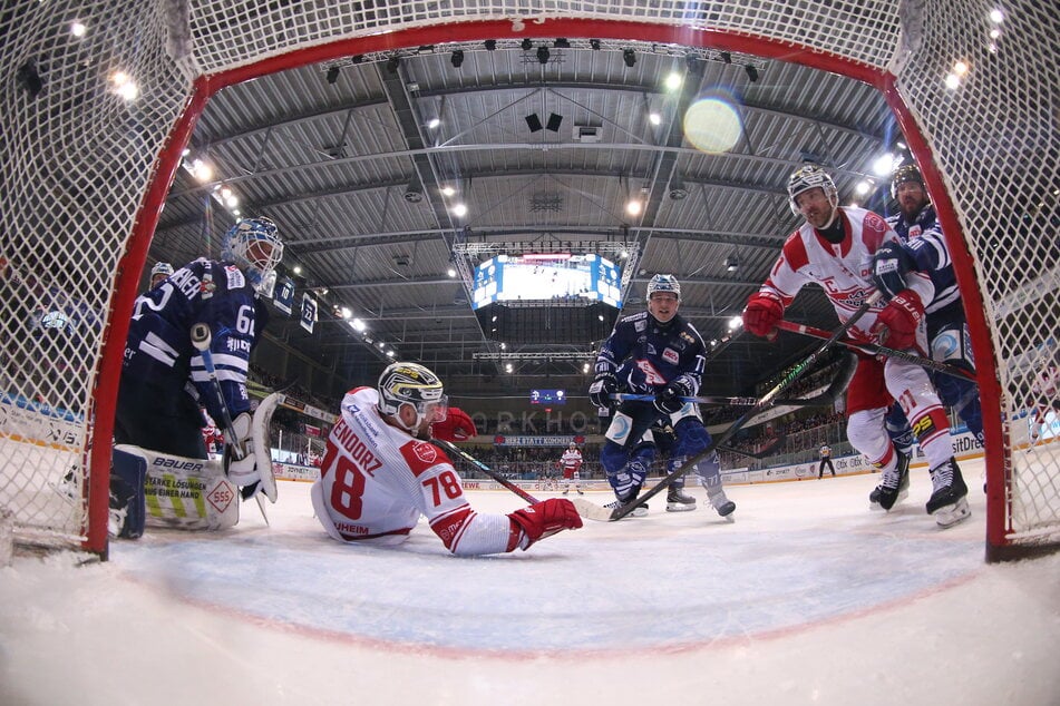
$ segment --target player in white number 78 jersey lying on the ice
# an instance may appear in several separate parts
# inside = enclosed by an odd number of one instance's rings
[[[441,381],[416,363],[393,363],[377,389],[347,393],[311,491],[330,537],[399,545],[426,516],[449,551],[469,556],[527,549],[582,526],[574,506],[558,498],[510,514],[476,512],[449,458],[427,441],[446,413]]]

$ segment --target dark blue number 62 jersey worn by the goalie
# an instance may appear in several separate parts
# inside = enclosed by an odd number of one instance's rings
[[[123,381],[143,381],[166,391],[186,390],[192,396],[197,394],[213,419],[222,419],[203,356],[191,340],[192,326],[205,323],[212,334],[210,350],[217,380],[235,418],[250,410],[246,372],[268,320],[268,308],[239,267],[196,259],[136,300]]]

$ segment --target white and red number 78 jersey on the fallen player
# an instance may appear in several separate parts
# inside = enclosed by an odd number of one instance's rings
[[[378,399],[371,388],[349,392],[328,437],[320,480],[312,489],[317,517],[328,535],[341,541],[399,545],[426,516],[454,553],[508,550],[508,518],[476,513],[449,458],[387,424],[377,411]]]

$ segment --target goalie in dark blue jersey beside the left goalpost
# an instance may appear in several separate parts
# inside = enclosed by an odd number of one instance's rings
[[[251,415],[246,372],[269,318],[259,295],[270,293],[282,256],[275,224],[247,218],[225,234],[221,261],[191,262],[136,300],[114,420],[110,516],[118,536],[135,539],[145,523],[231,527],[239,521],[237,487],[245,497],[262,492],[275,502],[271,406]],[[192,343],[196,324],[208,327],[215,379]],[[233,422],[236,438],[227,439],[223,462],[207,460],[200,405]]]

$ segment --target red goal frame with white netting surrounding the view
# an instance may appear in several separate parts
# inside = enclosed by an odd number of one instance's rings
[[[0,10],[0,507],[20,541],[106,553],[128,317],[212,92],[372,51],[583,37],[796,61],[885,94],[925,170],[969,310],[988,558],[1060,545],[1057,394],[1035,384],[1058,357],[1060,27],[1049,3],[16,0]],[[966,71],[951,88],[957,61]],[[69,471],[72,501],[54,490]]]

